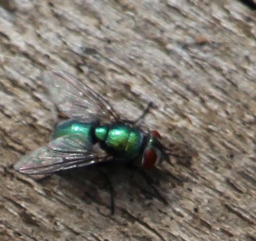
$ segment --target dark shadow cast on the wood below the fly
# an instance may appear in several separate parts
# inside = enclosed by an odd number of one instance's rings
[[[50,182],[51,186],[58,186],[62,192],[69,193],[68,196],[81,198],[88,205],[97,203],[109,208],[111,214],[122,202],[130,203],[131,209],[133,202],[168,205],[163,184],[171,182],[171,187],[175,188],[185,181],[167,171],[145,171],[134,165],[116,163],[71,169],[55,175],[60,180],[57,183],[52,178],[45,178],[41,184],[48,188]]]

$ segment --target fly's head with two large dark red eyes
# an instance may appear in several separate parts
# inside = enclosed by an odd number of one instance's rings
[[[142,167],[151,168],[162,163],[166,154],[165,147],[161,143],[161,135],[157,131],[151,131],[142,156]]]

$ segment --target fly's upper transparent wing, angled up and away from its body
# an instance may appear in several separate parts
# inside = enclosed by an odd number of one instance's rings
[[[72,74],[46,71],[43,79],[54,103],[68,117],[82,121],[120,119],[107,100]]]

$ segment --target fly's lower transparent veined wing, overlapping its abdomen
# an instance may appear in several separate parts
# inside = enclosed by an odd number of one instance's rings
[[[46,174],[110,160],[111,157],[81,134],[52,140],[47,146],[23,156],[14,169],[25,174]]]

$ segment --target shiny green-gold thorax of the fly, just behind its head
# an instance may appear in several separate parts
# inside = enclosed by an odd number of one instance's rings
[[[102,125],[95,127],[94,135],[106,151],[118,157],[133,159],[139,156],[143,137],[137,128],[125,124]]]

